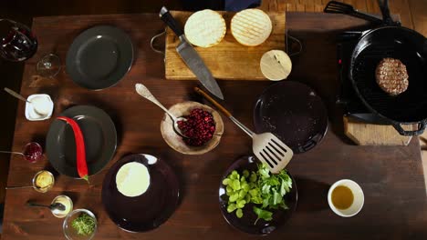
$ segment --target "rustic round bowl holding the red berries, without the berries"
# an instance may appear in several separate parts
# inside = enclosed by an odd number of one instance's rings
[[[207,111],[213,115],[213,120],[215,121],[215,132],[213,133],[213,137],[209,142],[201,146],[191,146],[186,145],[182,137],[177,135],[173,131],[172,119],[169,115],[164,115],[163,120],[161,120],[161,136],[163,136],[166,144],[170,145],[175,151],[180,152],[184,155],[203,155],[219,144],[221,140],[221,136],[224,133],[224,122],[221,118],[221,115],[218,114],[215,110],[207,105],[202,105],[196,102],[183,102],[176,105],[172,105],[169,108],[169,111],[172,115],[177,117],[190,115],[190,112],[194,108],[201,108],[204,111]]]

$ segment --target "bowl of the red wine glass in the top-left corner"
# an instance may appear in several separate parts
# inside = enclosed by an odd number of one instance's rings
[[[26,25],[0,19],[0,55],[5,60],[25,61],[33,56],[36,50],[36,35]]]

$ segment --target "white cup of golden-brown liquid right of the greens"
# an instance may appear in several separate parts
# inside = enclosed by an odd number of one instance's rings
[[[336,191],[336,192],[334,192]],[[345,201],[342,195],[351,192],[352,200],[349,198]],[[339,195],[341,197],[339,197]],[[348,196],[348,195],[346,195]],[[332,211],[343,217],[350,217],[359,214],[365,202],[365,196],[361,187],[354,181],[349,179],[341,179],[331,185],[328,191],[328,204]]]

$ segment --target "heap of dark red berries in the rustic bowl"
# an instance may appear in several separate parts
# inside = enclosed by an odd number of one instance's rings
[[[201,146],[212,139],[215,122],[211,113],[195,108],[186,118],[187,121],[178,122],[182,134],[188,136],[188,138],[183,138],[186,145]]]

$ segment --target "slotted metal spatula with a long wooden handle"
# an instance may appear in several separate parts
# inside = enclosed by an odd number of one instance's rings
[[[228,116],[235,125],[238,125],[247,135],[252,137],[253,145],[252,150],[256,157],[264,164],[268,166],[270,172],[278,174],[280,170],[284,169],[291,160],[294,152],[280,139],[272,133],[264,133],[257,135],[252,132],[245,125],[241,124],[237,119],[228,112],[224,106],[218,104],[210,95],[203,92],[202,89],[194,87],[194,90],[199,94],[203,95],[209,102],[215,105],[224,115]]]

